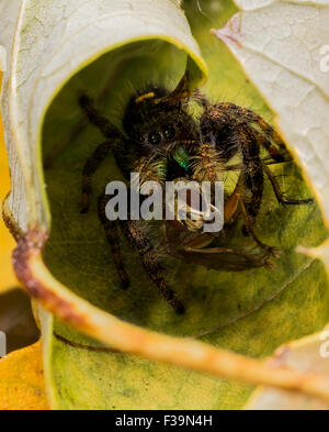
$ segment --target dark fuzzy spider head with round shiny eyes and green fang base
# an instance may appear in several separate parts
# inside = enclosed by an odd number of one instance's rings
[[[200,132],[183,100],[170,99],[159,87],[139,90],[127,104],[123,128],[127,140],[122,151],[141,181],[161,182],[186,174],[188,153]]]

